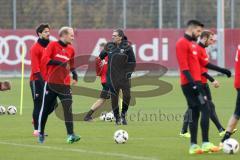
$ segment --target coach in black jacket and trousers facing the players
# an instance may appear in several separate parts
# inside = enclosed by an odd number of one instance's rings
[[[131,99],[131,74],[136,66],[136,59],[127,37],[121,29],[113,31],[113,42],[107,43],[99,57],[108,56],[107,84],[111,91],[111,102],[117,125],[127,125],[126,113]],[[123,102],[121,117],[119,114],[118,98],[122,90]]]

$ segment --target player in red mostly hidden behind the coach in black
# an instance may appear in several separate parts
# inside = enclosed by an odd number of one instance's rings
[[[101,51],[105,47],[105,43],[100,44]],[[108,56],[101,60],[99,57],[96,58],[96,71],[97,76],[101,77],[102,91],[100,94],[100,98],[92,105],[91,109],[88,111],[86,116],[84,117],[84,121],[91,121],[92,114],[101,106],[104,105],[107,99],[110,98],[109,87],[107,85],[107,69],[108,69]]]

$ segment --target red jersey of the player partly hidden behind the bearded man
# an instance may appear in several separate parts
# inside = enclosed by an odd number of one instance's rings
[[[201,67],[201,74],[208,72],[208,69],[205,66],[209,63],[209,56],[206,52],[206,49],[200,45],[198,45],[198,58]],[[202,75],[201,80],[203,84],[207,83],[207,78]]]

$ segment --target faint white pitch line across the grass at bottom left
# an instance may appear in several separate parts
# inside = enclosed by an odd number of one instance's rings
[[[10,145],[10,146],[26,147],[26,148],[50,149],[50,150],[56,150],[56,151],[71,151],[71,152],[78,152],[78,153],[80,152],[80,153],[96,154],[96,155],[101,155],[101,156],[122,157],[122,158],[127,158],[127,159],[159,160],[159,159],[151,158],[151,157],[134,156],[134,155],[128,155],[128,154],[123,154],[123,153],[89,151],[89,150],[75,149],[75,148],[61,148],[61,147],[45,146],[45,145],[42,145],[42,144],[31,145],[31,144],[19,144],[19,143],[10,143],[10,142],[1,142],[1,141],[0,141],[0,144]]]

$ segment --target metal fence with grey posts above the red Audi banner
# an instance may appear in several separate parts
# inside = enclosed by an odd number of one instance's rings
[[[182,28],[189,19],[217,27],[218,0],[0,0],[0,28]],[[225,0],[225,28],[240,28],[240,0]]]

